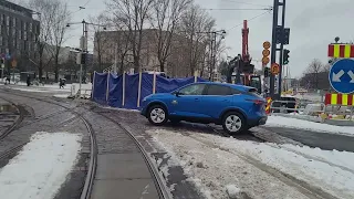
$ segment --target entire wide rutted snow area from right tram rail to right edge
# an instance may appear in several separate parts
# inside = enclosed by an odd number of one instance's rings
[[[354,154],[237,140],[217,135],[148,130],[165,148],[169,165],[183,166],[208,198],[354,198]],[[166,172],[166,171],[165,171]],[[287,177],[288,176],[288,177]]]

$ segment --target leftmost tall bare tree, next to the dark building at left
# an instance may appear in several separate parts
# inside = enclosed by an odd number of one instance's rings
[[[30,0],[30,8],[38,12],[38,20],[40,21],[40,28],[37,28],[37,31],[40,31],[39,38],[37,39],[35,46],[35,61],[34,64],[38,67],[40,81],[43,76],[43,70],[52,60],[52,53],[50,53],[49,43],[52,40],[52,24],[55,18],[56,7],[52,3],[51,0]]]

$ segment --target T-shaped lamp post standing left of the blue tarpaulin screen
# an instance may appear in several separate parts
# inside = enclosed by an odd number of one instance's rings
[[[81,44],[80,44],[82,54],[87,54],[87,38],[88,38],[87,36],[87,34],[88,34],[87,28],[88,28],[88,24],[90,25],[96,25],[96,27],[103,27],[103,30],[106,30],[105,25],[90,23],[90,22],[86,22],[85,20],[82,20],[81,22],[67,23],[66,27],[69,28],[72,24],[82,24],[82,40],[81,40]],[[81,57],[83,57],[83,56],[81,56]],[[86,57],[86,56],[84,56],[84,57]],[[83,61],[81,61],[81,63],[80,63],[80,77],[79,77],[79,81],[80,81],[80,85],[79,85],[80,96],[81,96],[83,66],[84,65],[86,65],[86,63],[84,62],[84,64],[83,64]],[[84,69],[84,74],[86,74],[86,69]]]

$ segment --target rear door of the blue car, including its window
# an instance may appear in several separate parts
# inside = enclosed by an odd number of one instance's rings
[[[200,102],[200,105],[204,107],[202,114],[208,117],[218,118],[222,111],[231,106],[232,101],[232,91],[229,86],[210,84],[207,86]]]

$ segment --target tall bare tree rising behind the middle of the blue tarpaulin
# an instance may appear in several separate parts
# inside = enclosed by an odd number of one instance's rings
[[[143,29],[146,25],[153,2],[154,0],[110,0],[107,3],[113,18],[121,21],[129,33],[135,71],[140,70]]]

